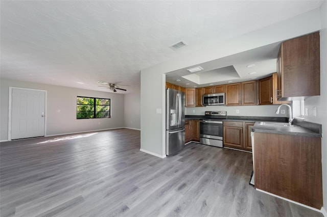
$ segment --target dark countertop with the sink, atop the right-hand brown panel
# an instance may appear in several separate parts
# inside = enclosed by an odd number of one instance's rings
[[[268,122],[268,121],[266,121]],[[288,135],[301,135],[304,137],[322,137],[321,131],[316,130],[316,126],[313,127],[303,127],[299,125],[294,126],[274,126],[274,125],[262,125],[262,121],[256,121],[252,127],[253,132],[266,132],[266,133],[275,133],[275,134],[288,134]],[[268,122],[269,123],[269,122]],[[282,123],[282,122],[280,122]],[[285,122],[287,123],[287,122]],[[306,122],[309,123],[309,122]],[[311,125],[320,125],[311,123]],[[318,127],[319,128],[319,127]]]

